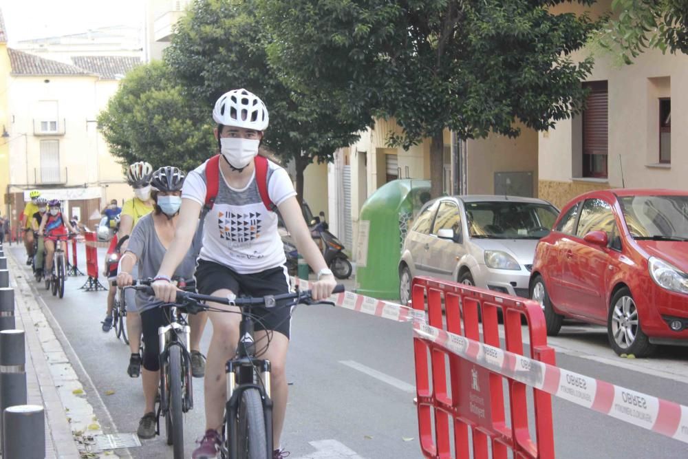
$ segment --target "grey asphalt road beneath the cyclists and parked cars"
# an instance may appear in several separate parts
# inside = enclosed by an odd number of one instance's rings
[[[22,259],[23,249],[15,246],[11,250]],[[98,251],[102,259],[104,250]],[[109,432],[135,432],[142,415],[140,379],[126,374],[129,348],[112,332],[100,330],[105,292],[79,290],[84,281],[84,277],[69,278],[64,299],[46,295],[40,287],[37,293],[56,319],[55,328],[63,330],[67,353],[70,348],[74,351],[70,357],[82,382],[87,386],[92,382],[100,394],[89,394],[89,401],[101,424]],[[208,325],[204,349],[210,332]],[[283,447],[291,451],[290,459],[421,457],[413,405],[411,337],[410,324],[341,308],[297,308],[292,320],[290,401],[283,433]],[[550,345],[557,350],[559,367],[688,405],[685,348],[662,348],[652,359],[619,359],[608,347],[602,328],[576,324],[565,325],[559,337],[550,339]],[[193,440],[204,429],[202,380],[194,383],[195,409],[185,418],[189,456]],[[106,391],[114,394],[105,395]],[[557,458],[688,457],[684,443],[558,398],[552,399],[552,412]],[[532,429],[531,435],[535,435]],[[171,456],[160,437],[129,452],[135,458]]]

